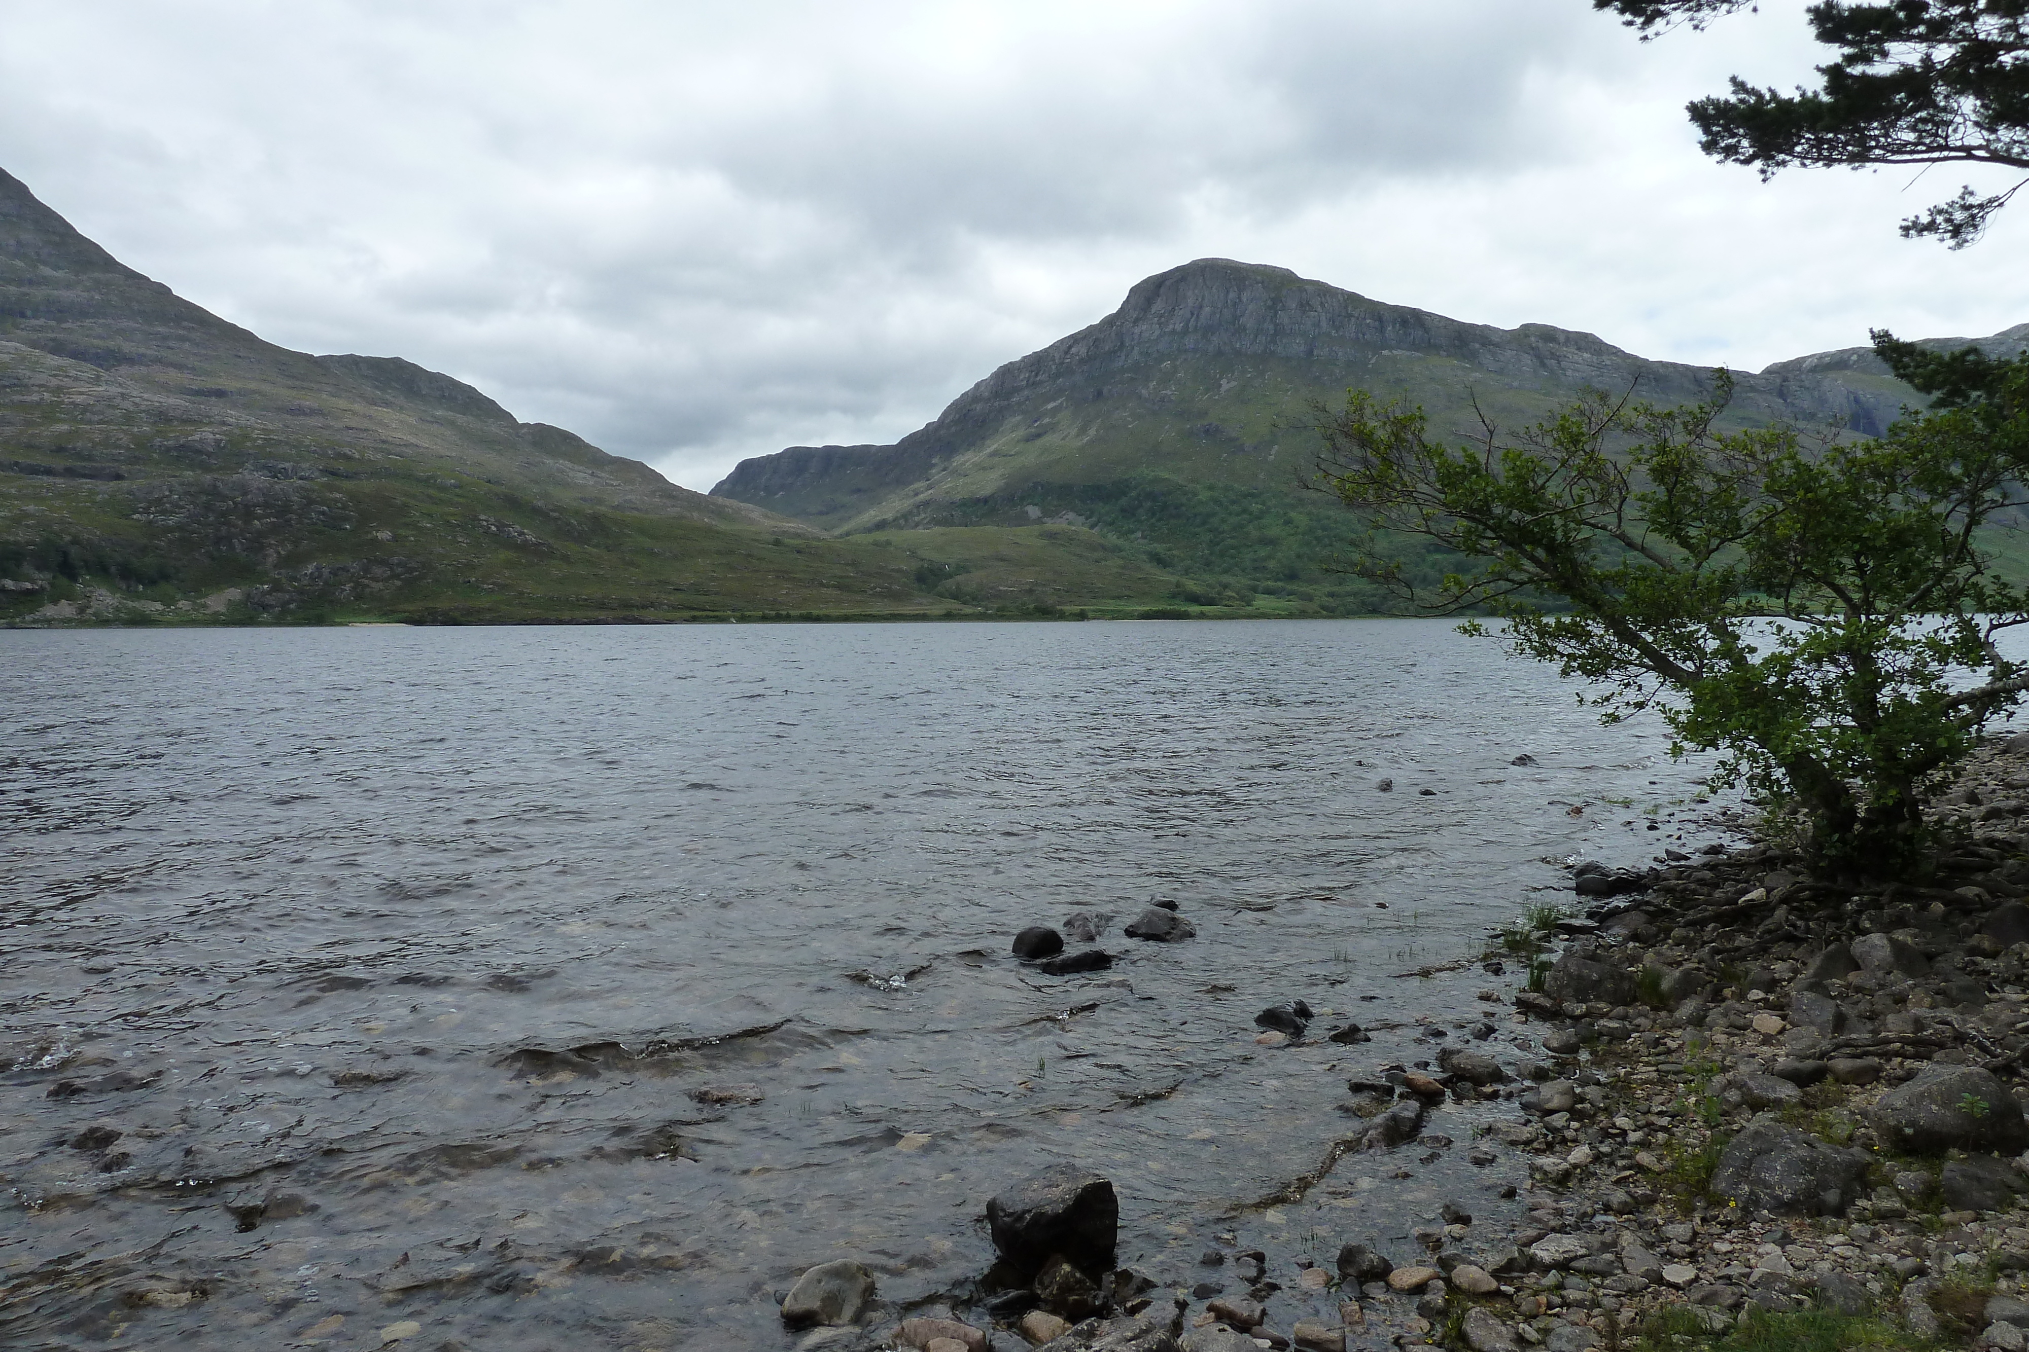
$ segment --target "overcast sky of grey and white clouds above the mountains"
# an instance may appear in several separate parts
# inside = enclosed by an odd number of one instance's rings
[[[1753,170],[1682,105],[1802,4],[0,0],[0,166],[262,336],[467,379],[694,489],[889,442],[1205,255],[1759,369],[2029,320],[1968,166]],[[1913,186],[1911,186],[1911,180]]]

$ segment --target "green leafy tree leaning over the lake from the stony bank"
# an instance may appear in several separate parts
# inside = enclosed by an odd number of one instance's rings
[[[1938,395],[1881,440],[1721,432],[1725,371],[1698,405],[1589,393],[1461,442],[1351,391],[1319,407],[1319,486],[1368,517],[1366,576],[1428,614],[1491,610],[1512,651],[1593,681],[1605,722],[1654,707],[1674,752],[1721,750],[1721,778],[1802,809],[1822,866],[1895,876],[1934,772],[2029,689],[1995,645],[2029,588],[1982,537],[2029,474],[2029,357],[1875,351]],[[1414,588],[1390,531],[1473,564]]]

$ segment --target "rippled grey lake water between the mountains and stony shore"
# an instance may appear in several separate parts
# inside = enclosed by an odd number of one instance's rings
[[[0,1342],[791,1346],[1057,1159],[1165,1281],[1402,1236],[1463,1109],[1256,1202],[1489,1009],[1392,973],[1660,849],[1664,746],[1435,622],[4,632]],[[1008,957],[1073,910],[1112,971]]]

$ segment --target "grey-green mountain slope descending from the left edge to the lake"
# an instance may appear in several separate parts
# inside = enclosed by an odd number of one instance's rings
[[[266,343],[0,172],[0,622],[950,608],[919,564]]]

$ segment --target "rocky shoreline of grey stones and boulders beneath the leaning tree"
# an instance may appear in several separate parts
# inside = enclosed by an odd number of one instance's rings
[[[1349,1080],[1319,1178],[1451,1147],[1424,1131],[1445,1107],[1471,1163],[1526,1159],[1520,1220],[1451,1202],[1414,1253],[1288,1271],[1236,1224],[1197,1273],[1140,1273],[1112,1267],[1110,1184],[1071,1170],[994,1198],[972,1299],[897,1320],[832,1263],[785,1320],[812,1348],[919,1352],[1690,1348],[1783,1318],[1846,1320],[1838,1346],[2029,1348],[2029,736],[1974,752],[1934,817],[1952,843],[1923,886],[1814,880],[1771,841],[1581,866],[1587,916],[1536,912],[1483,957],[1510,989],[1422,1028],[1428,1060]],[[1292,1013],[1264,1009],[1260,1042],[1303,1040]]]

